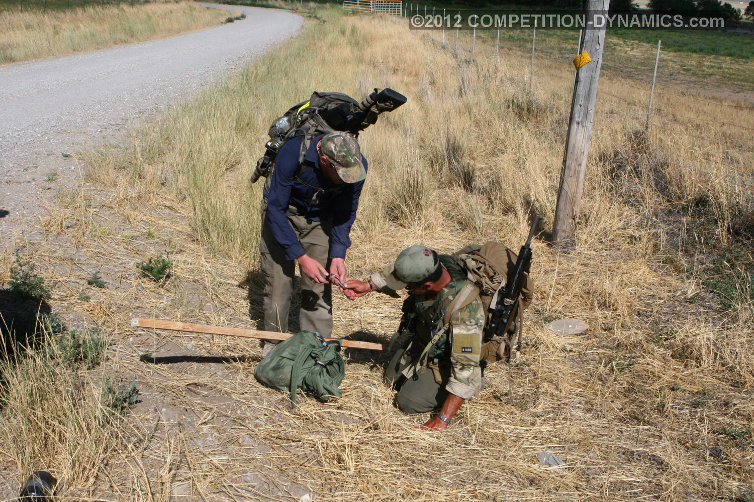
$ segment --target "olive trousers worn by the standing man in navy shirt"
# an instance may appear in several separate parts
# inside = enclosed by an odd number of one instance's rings
[[[299,214],[289,214],[288,222],[309,257],[328,268],[329,224],[311,221]],[[262,254],[262,278],[265,281],[265,330],[288,331],[288,312],[293,295],[293,276],[296,260],[288,260],[285,251],[272,235],[265,214],[262,213],[262,238],[259,242]],[[299,328],[329,336],[333,331],[333,302],[329,282],[317,284],[301,274],[301,312]],[[273,343],[277,343],[272,341]]]

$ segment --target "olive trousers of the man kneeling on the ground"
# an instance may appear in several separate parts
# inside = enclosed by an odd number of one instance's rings
[[[385,367],[383,378],[385,383],[398,391],[395,403],[404,413],[429,413],[443,407],[448,391],[435,382],[434,373],[427,368],[424,373],[418,370],[408,379],[401,375],[403,368],[412,362],[412,357],[406,357],[406,364],[400,364],[400,358],[405,349],[401,348],[395,353],[388,366]],[[415,354],[418,357],[418,354]]]

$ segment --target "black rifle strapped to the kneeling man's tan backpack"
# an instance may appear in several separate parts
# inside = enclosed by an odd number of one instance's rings
[[[498,301],[495,303],[495,306],[489,307],[489,312],[492,316],[490,316],[489,324],[484,332],[484,340],[486,342],[495,336],[504,337],[504,331],[508,325],[508,321],[510,321],[513,312],[516,310],[516,306],[519,303],[518,300],[521,296],[523,281],[526,278],[525,274],[529,273],[529,267],[532,264],[531,244],[538,221],[539,214],[535,214],[534,221],[532,221],[532,228],[529,230],[529,239],[526,239],[526,243],[521,246],[518,260],[516,260],[516,265],[513,267],[513,272],[508,274],[505,286],[498,291]],[[521,336],[519,335],[518,343],[516,345],[516,357],[518,357],[518,354],[520,353]]]

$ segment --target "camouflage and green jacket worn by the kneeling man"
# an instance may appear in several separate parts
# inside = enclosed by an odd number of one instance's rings
[[[406,321],[404,331],[412,333],[406,348],[408,367],[425,371],[431,368],[435,380],[451,394],[469,399],[482,388],[480,353],[485,323],[485,312],[479,298],[458,309],[447,325],[444,317],[455,298],[466,284],[466,274],[448,254],[440,254],[440,263],[448,270],[451,281],[436,297],[428,300],[422,295],[409,294],[403,304]],[[371,279],[378,290],[395,294],[385,277],[392,272],[392,265],[372,274]],[[425,352],[425,348],[434,342]],[[423,360],[422,360],[423,359]]]

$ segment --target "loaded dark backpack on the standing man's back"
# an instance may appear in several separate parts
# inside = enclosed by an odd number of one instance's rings
[[[270,126],[270,141],[265,144],[265,154],[256,163],[251,182],[267,178],[274,168],[275,157],[280,148],[291,138],[304,136],[299,152],[299,173],[311,138],[333,131],[359,135],[373,123],[383,111],[393,111],[406,102],[406,96],[392,89],[375,89],[362,102],[357,102],[343,93],[314,92],[308,101],[290,108],[282,117],[277,117]]]

